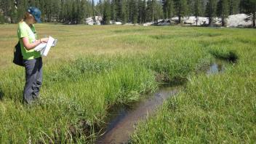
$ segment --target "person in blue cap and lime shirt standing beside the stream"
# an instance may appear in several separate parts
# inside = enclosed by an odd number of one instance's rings
[[[40,19],[41,11],[36,7],[29,7],[17,28],[17,37],[20,41],[25,67],[23,103],[27,104],[31,104],[39,98],[39,89],[42,84],[43,63],[41,54],[33,49],[42,42],[47,43],[48,41],[48,38],[36,39],[36,29],[33,24],[41,23]]]

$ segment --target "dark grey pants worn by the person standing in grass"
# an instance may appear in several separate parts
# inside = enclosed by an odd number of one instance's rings
[[[23,60],[25,65],[25,87],[23,102],[31,104],[39,98],[39,89],[43,80],[43,62],[41,57],[33,60]]]

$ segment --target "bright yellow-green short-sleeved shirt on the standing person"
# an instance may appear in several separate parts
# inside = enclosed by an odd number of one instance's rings
[[[27,50],[24,47],[23,40],[21,38],[27,37],[29,43],[36,41],[36,29],[34,25],[28,26],[25,22],[20,22],[17,28],[17,37],[20,41],[21,53],[24,60],[32,60],[37,57],[41,57],[40,52],[36,52],[34,49]]]

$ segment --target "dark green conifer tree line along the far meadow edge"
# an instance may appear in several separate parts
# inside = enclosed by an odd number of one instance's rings
[[[84,23],[85,17],[103,16],[121,23],[146,23],[159,19],[194,15],[221,17],[223,25],[228,15],[246,13],[255,26],[256,0],[0,0],[0,23],[17,23],[28,7],[39,7],[41,18],[47,23]]]

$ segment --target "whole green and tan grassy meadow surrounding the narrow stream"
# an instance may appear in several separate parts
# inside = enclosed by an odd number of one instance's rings
[[[17,25],[0,25],[0,143],[94,143],[115,105],[184,82],[131,143],[254,143],[256,31],[133,25],[36,24],[58,39],[44,57],[41,98],[23,105],[24,68],[12,64]],[[238,57],[207,76],[214,57]]]

